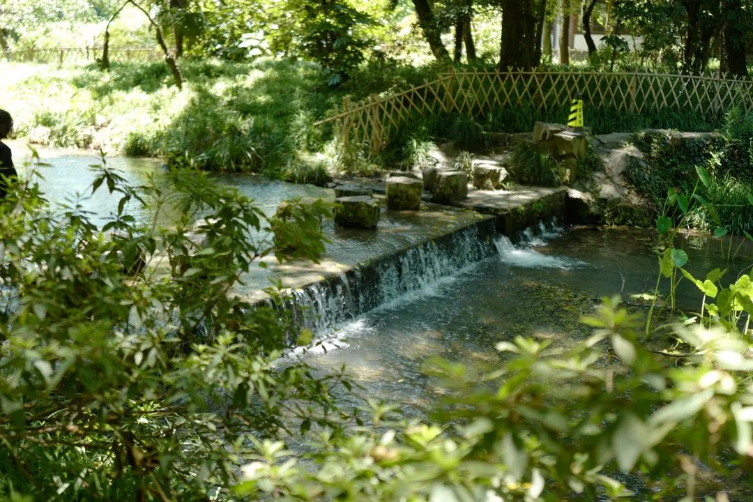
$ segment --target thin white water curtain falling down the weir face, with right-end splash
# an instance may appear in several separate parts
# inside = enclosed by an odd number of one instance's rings
[[[314,333],[330,333],[358,315],[416,291],[427,292],[460,270],[497,254],[511,266],[568,269],[581,266],[578,260],[541,254],[533,248],[559,236],[556,220],[529,227],[514,245],[507,236],[495,233],[488,221],[472,225],[398,251],[373,263],[363,263],[335,277],[292,291],[277,309],[291,312],[294,325]]]

